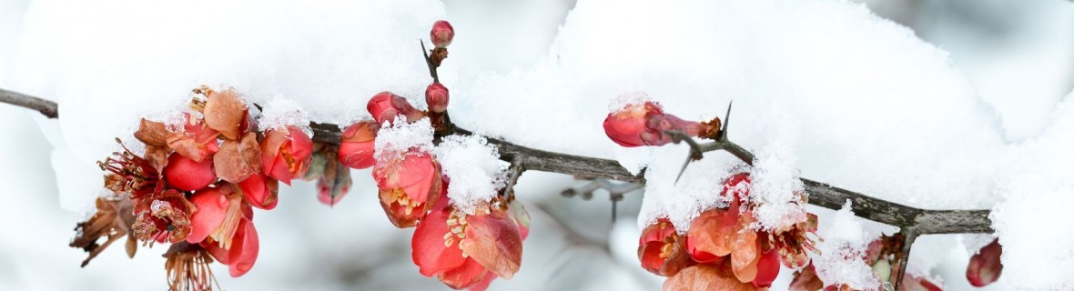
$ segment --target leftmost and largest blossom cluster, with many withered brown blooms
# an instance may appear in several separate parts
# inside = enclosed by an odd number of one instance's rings
[[[259,131],[235,91],[194,92],[201,97],[182,125],[141,120],[134,137],[143,155],[125,146],[99,162],[115,195],[98,200],[72,243],[90,258],[124,234],[130,256],[134,239],[171,244],[164,257],[173,290],[212,289],[214,260],[233,277],[249,272],[259,250],[252,208],[275,208],[279,183],[309,176],[314,156],[309,136],[294,126]]]

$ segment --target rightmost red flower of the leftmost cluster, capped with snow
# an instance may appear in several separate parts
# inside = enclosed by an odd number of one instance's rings
[[[265,175],[284,184],[291,185],[291,179],[305,175],[309,168],[314,142],[309,135],[293,126],[287,131],[271,129],[261,141],[261,161]]]

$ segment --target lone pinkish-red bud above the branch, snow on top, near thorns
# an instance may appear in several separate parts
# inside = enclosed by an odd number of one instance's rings
[[[671,136],[667,131],[679,130],[698,136],[703,130],[701,123],[665,114],[658,103],[649,101],[627,104],[618,112],[608,114],[604,127],[609,139],[625,147],[668,144]]]

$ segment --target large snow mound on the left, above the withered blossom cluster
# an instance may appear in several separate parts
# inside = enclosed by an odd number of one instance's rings
[[[434,0],[35,0],[4,56],[3,84],[57,101],[73,156],[93,164],[116,149],[113,137],[133,141],[139,118],[182,111],[201,85],[263,105],[282,96],[337,125],[368,118],[365,102],[379,91],[423,96],[417,40],[444,18]]]

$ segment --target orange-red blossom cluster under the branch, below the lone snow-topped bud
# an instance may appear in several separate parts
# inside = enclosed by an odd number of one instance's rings
[[[713,207],[694,218],[685,235],[661,219],[641,232],[638,259],[653,274],[670,277],[666,290],[681,290],[684,282],[709,281],[720,288],[768,288],[780,265],[796,268],[809,262],[816,232],[816,216],[785,229],[760,230],[746,200],[750,175],[736,174],[723,183],[725,207]],[[697,268],[686,272],[691,268]],[[706,288],[715,288],[709,286]]]

